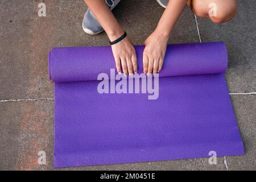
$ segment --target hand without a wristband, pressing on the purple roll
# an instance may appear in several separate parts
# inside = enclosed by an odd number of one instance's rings
[[[143,51],[143,72],[150,76],[158,73],[163,67],[164,56],[169,35],[163,35],[155,30],[145,40]]]

